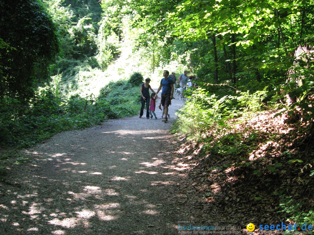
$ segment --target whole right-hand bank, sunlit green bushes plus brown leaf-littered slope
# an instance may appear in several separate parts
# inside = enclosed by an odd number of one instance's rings
[[[171,131],[200,146],[191,174],[200,177],[203,200],[228,222],[313,225],[312,114],[291,122],[291,109],[276,115],[267,96],[266,89],[217,97],[198,88]]]

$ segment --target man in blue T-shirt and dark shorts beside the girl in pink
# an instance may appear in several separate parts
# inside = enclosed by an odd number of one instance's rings
[[[165,107],[165,113],[164,113],[164,118],[162,119],[163,122],[168,121],[168,107],[171,105],[171,100],[173,97],[173,81],[171,78],[169,78],[169,71],[164,70],[163,73],[164,78],[161,79],[160,81],[160,86],[158,87],[158,90],[156,92],[155,97],[157,98],[157,94],[162,88],[161,91],[161,105]]]

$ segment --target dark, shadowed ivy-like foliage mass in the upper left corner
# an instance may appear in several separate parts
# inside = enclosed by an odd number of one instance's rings
[[[0,99],[23,102],[48,80],[58,51],[54,24],[41,2],[0,2]]]

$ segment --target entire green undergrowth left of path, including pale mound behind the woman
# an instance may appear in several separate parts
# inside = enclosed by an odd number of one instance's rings
[[[58,86],[37,91],[28,103],[12,98],[0,100],[0,147],[26,148],[55,133],[83,129],[109,118],[133,116],[140,107],[138,87],[124,80],[110,82],[100,92],[86,97],[62,95]]]

